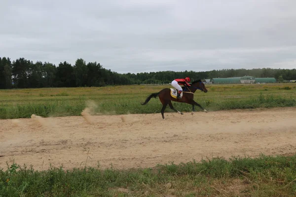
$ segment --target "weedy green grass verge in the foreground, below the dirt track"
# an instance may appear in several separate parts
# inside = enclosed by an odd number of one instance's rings
[[[1,197],[241,196],[294,197],[296,155],[216,158],[154,168],[117,170],[8,165],[0,170]]]

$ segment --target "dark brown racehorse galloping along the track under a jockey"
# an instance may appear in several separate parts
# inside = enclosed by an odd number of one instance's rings
[[[151,95],[149,95],[147,97],[147,99],[145,100],[144,103],[141,103],[142,105],[145,105],[149,102],[149,100],[151,98],[156,98],[158,96],[160,102],[162,103],[162,108],[161,108],[161,115],[162,118],[164,119],[164,110],[167,107],[167,105],[169,104],[170,108],[172,110],[174,110],[175,112],[178,112],[180,114],[183,114],[182,112],[176,110],[172,104],[172,101],[176,101],[176,102],[185,102],[188,104],[192,105],[192,111],[195,111],[194,106],[197,105],[199,106],[202,110],[204,110],[205,112],[207,112],[207,110],[205,110],[200,104],[198,104],[197,102],[195,102],[193,100],[193,96],[196,90],[201,90],[202,92],[208,92],[208,90],[205,87],[205,84],[199,79],[196,81],[193,81],[192,84],[190,84],[190,87],[182,87],[183,89],[183,96],[181,99],[175,99],[171,96],[171,89],[170,88],[165,88],[162,89],[160,92],[158,93],[152,93]]]

